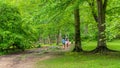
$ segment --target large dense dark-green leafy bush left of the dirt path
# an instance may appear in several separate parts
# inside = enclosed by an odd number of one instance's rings
[[[19,9],[5,3],[0,4],[0,48],[18,48],[24,50],[30,47],[35,38],[34,29],[30,29],[21,18]],[[31,27],[32,28],[32,27]]]

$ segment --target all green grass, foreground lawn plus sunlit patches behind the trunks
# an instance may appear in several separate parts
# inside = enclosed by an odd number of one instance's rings
[[[108,48],[120,51],[119,40],[108,42]],[[84,50],[92,50],[96,42],[83,42]],[[120,68],[120,52],[105,54],[66,52],[54,58],[39,61],[36,68]]]

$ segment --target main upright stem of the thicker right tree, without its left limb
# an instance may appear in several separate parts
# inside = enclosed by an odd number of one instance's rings
[[[105,3],[106,2],[106,3]],[[105,35],[105,11],[106,11],[106,5],[107,0],[104,1],[104,4],[102,4],[102,0],[97,0],[97,6],[98,6],[98,42],[97,42],[97,48],[94,50],[95,52],[105,52],[109,49],[106,46],[106,35]]]

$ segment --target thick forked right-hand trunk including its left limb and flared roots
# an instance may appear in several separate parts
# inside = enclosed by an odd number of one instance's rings
[[[91,3],[89,3],[91,9],[92,9],[92,15],[95,19],[95,21],[98,23],[98,42],[97,47],[92,52],[106,52],[106,51],[114,51],[107,48],[106,44],[106,35],[105,35],[105,29],[106,29],[106,23],[105,23],[105,13],[106,13],[106,7],[107,7],[108,0],[97,0],[97,8],[98,8],[98,16],[95,13],[94,10],[94,0],[92,0]]]

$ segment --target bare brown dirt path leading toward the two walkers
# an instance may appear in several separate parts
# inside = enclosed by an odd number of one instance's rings
[[[54,47],[52,47],[54,49]],[[49,47],[51,49],[51,47]],[[59,52],[66,51],[58,47]],[[35,68],[38,61],[52,58],[55,52],[48,47],[26,50],[23,53],[0,56],[0,68]],[[54,54],[54,55],[53,55]]]

